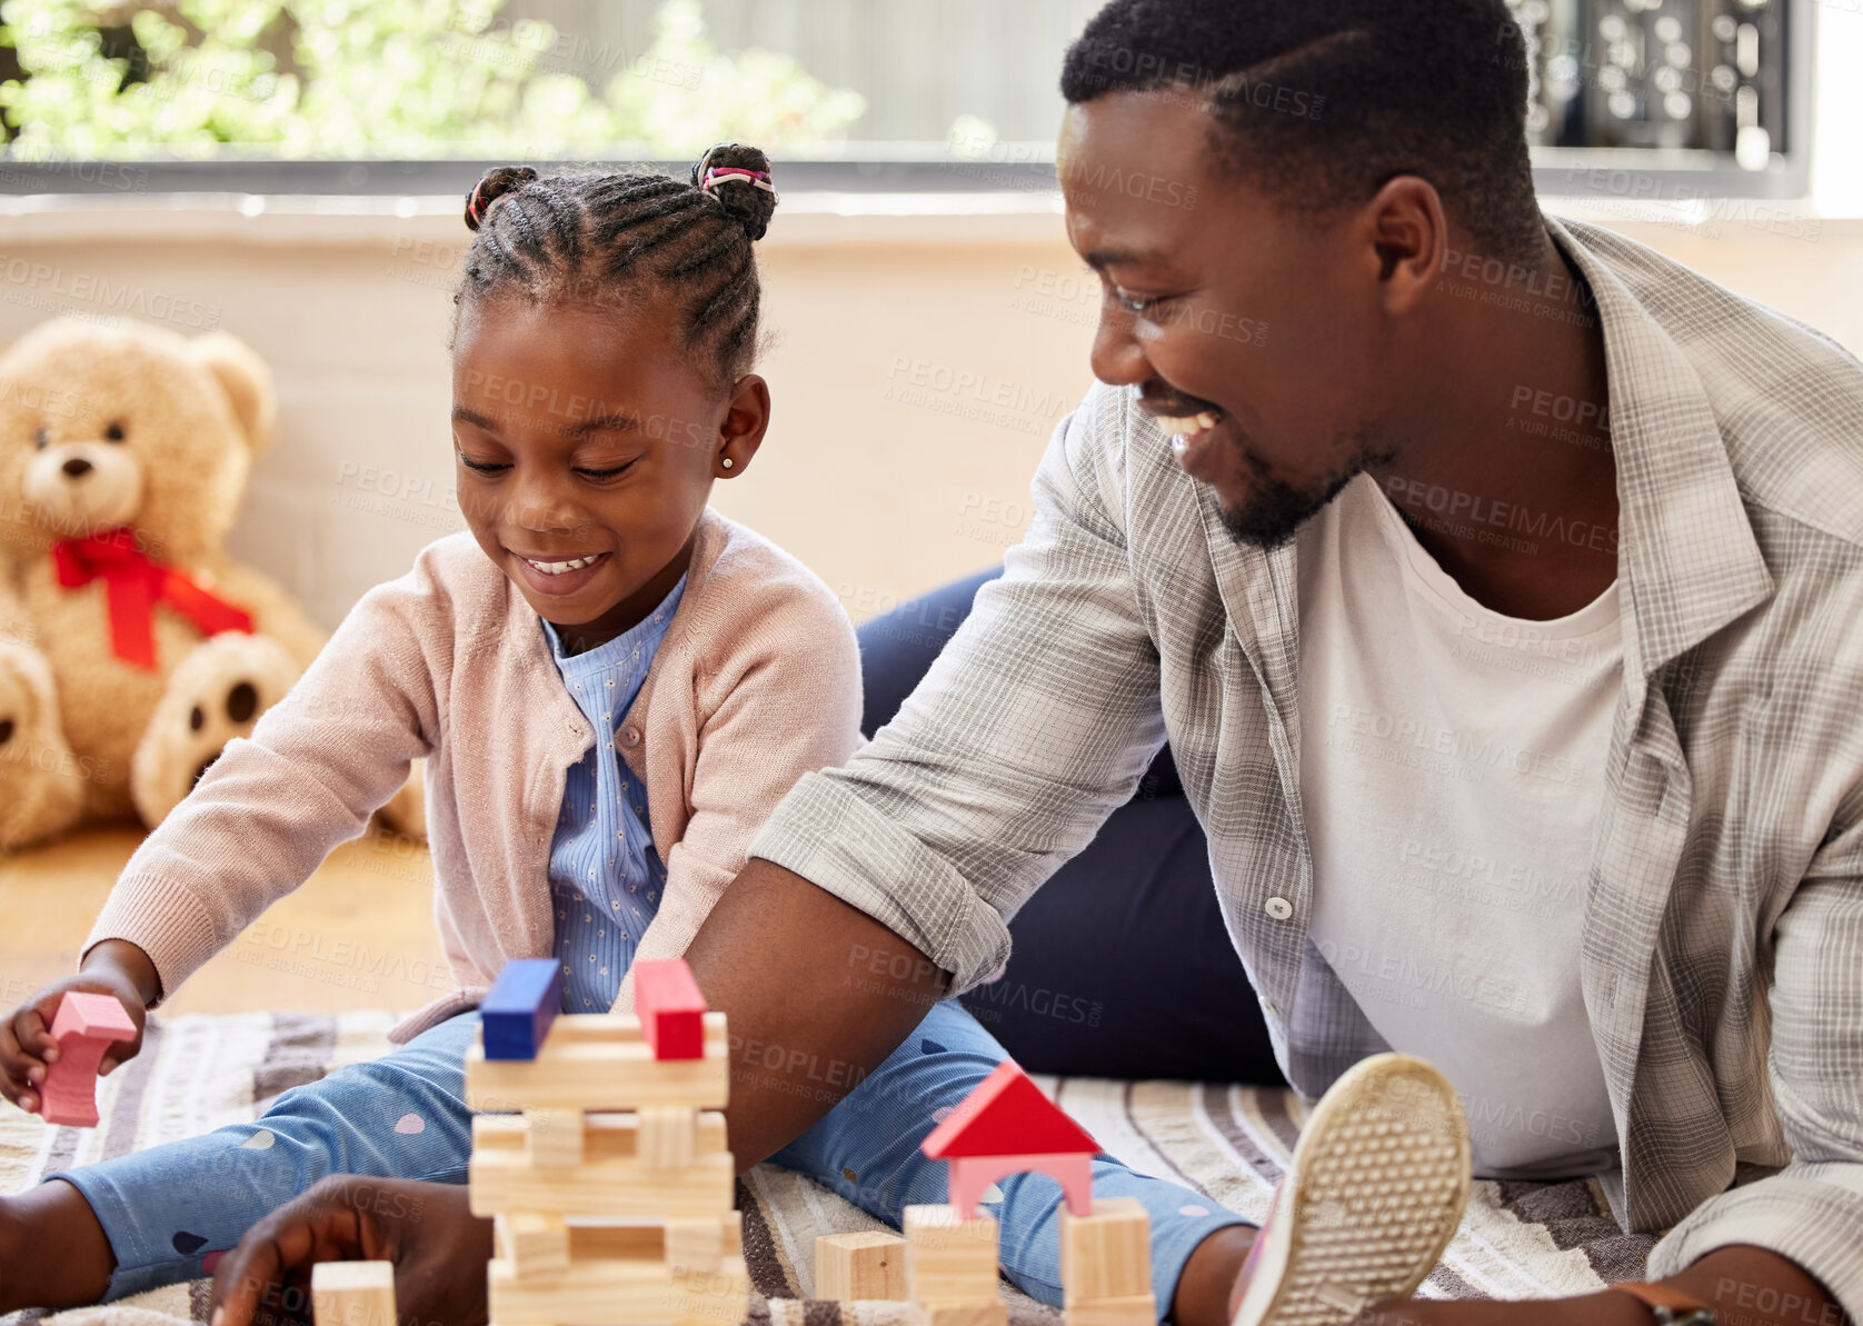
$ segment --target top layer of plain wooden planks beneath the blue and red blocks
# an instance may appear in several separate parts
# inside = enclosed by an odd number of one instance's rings
[[[706,1015],[704,1058],[697,1060],[656,1060],[633,1019],[600,1013],[559,1017],[544,1049],[529,1062],[488,1060],[481,1045],[466,1049],[466,1103],[473,1110],[639,1110],[660,1104],[721,1110],[728,1101],[723,1013]]]

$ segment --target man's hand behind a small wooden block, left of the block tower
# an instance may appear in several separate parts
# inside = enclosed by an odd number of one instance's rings
[[[212,1326],[311,1320],[311,1266],[395,1263],[395,1315],[417,1326],[483,1326],[492,1222],[466,1188],[332,1175],[253,1225],[214,1270]]]

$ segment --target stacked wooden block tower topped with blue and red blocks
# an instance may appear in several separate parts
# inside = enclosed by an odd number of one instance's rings
[[[548,972],[544,968],[550,968]],[[466,1054],[471,1209],[492,1326],[738,1326],[725,1015],[682,959],[633,965],[639,1017],[555,1015],[561,968],[509,963]]]

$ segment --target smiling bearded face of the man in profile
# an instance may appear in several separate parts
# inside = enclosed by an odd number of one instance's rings
[[[1211,156],[1189,91],[1069,106],[1067,238],[1107,287],[1094,374],[1138,393],[1224,523],[1272,548],[1390,458],[1375,264],[1351,218],[1276,209]]]

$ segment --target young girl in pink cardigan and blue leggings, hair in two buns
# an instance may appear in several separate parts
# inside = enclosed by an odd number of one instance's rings
[[[564,1011],[628,1004],[632,963],[686,950],[790,784],[851,754],[846,615],[794,559],[706,510],[769,421],[749,372],[751,242],[773,207],[768,162],[741,147],[708,153],[691,184],[507,168],[471,192],[453,341],[471,536],[367,594],[151,834],[82,972],[0,1026],[0,1089],[37,1108],[65,991],[116,994],[140,1024],[423,756],[436,911],[462,989],[397,1028],[401,1050],[281,1095],[257,1123],[0,1199],[0,1311],[199,1276],[326,1175],[462,1184],[471,1009],[503,963],[555,955]],[[943,1201],[943,1166],[918,1142],[1000,1060],[969,1013],[939,1004],[775,1160],[898,1224],[904,1205]],[[1021,1175],[1000,1192],[1004,1266],[1060,1302],[1056,1184]],[[1161,1315],[1192,1250],[1239,1224],[1110,1158],[1095,1192],[1151,1212]],[[464,1211],[458,1186],[436,1194],[436,1216]]]

